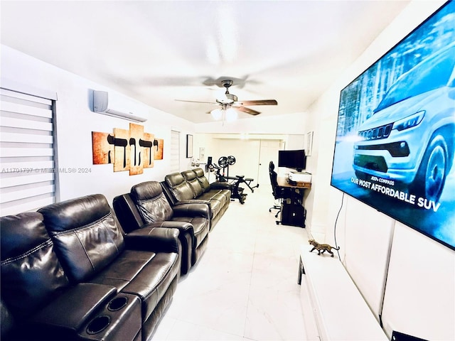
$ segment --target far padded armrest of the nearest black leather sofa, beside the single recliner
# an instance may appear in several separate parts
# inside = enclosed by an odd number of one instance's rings
[[[154,224],[154,223],[151,223]],[[141,229],[129,232],[125,236],[127,249],[146,250],[153,252],[175,252],[180,249],[178,229],[165,227],[149,227],[145,224]]]

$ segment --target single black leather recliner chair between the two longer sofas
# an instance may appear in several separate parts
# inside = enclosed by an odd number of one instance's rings
[[[160,183],[134,185],[130,193],[114,197],[114,211],[127,234],[143,227],[170,227],[180,230],[181,274],[188,273],[208,244],[210,209],[205,202],[169,205]]]

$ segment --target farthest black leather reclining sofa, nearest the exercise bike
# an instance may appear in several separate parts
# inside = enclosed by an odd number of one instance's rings
[[[207,203],[211,212],[210,230],[215,227],[230,204],[230,185],[209,183],[202,168],[168,174],[161,185],[171,205],[178,202]]]

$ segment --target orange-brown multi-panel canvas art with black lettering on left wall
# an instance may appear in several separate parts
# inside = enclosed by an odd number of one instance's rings
[[[94,165],[112,163],[114,172],[129,171],[129,175],[144,173],[163,159],[164,140],[144,133],[144,126],[129,124],[129,130],[114,128],[112,133],[92,131]]]

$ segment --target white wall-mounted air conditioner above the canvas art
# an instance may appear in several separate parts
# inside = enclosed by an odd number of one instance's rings
[[[93,90],[92,111],[134,122],[147,120],[136,103],[106,91]]]

